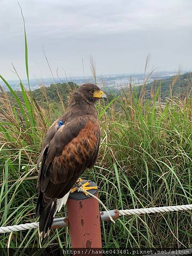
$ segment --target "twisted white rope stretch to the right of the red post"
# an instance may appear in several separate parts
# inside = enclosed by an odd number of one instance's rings
[[[174,211],[184,211],[184,210],[192,210],[192,204],[119,210],[119,216],[121,216],[121,215],[133,215],[133,214],[155,213],[155,212],[174,212]]]

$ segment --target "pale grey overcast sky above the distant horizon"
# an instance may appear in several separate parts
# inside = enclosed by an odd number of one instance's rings
[[[15,79],[13,63],[26,78],[23,20],[26,22],[29,76],[142,73],[150,67],[192,70],[192,0],[0,0],[0,74]],[[40,68],[41,71],[40,71]],[[149,67],[149,68],[150,68]]]

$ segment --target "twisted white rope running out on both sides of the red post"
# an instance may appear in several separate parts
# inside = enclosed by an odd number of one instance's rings
[[[145,214],[145,213],[155,213],[155,212],[174,212],[174,211],[185,211],[185,210],[192,210],[192,204],[140,208],[140,209],[127,209],[127,210],[119,210],[118,212],[119,212],[119,216],[122,216],[122,215]],[[32,223],[26,223],[26,224],[14,225],[14,226],[0,227],[0,233],[28,230],[31,228],[38,228],[38,226],[39,226],[38,222],[32,222]]]

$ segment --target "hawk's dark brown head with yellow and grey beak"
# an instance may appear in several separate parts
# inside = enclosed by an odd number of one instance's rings
[[[95,84],[82,84],[73,93],[73,98],[84,99],[89,104],[94,104],[98,99],[106,99],[105,93]]]

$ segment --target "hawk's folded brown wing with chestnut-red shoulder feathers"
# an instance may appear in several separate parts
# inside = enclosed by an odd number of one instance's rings
[[[62,198],[97,158],[100,143],[99,122],[92,116],[79,117],[56,131],[46,151],[39,178],[44,197]]]

